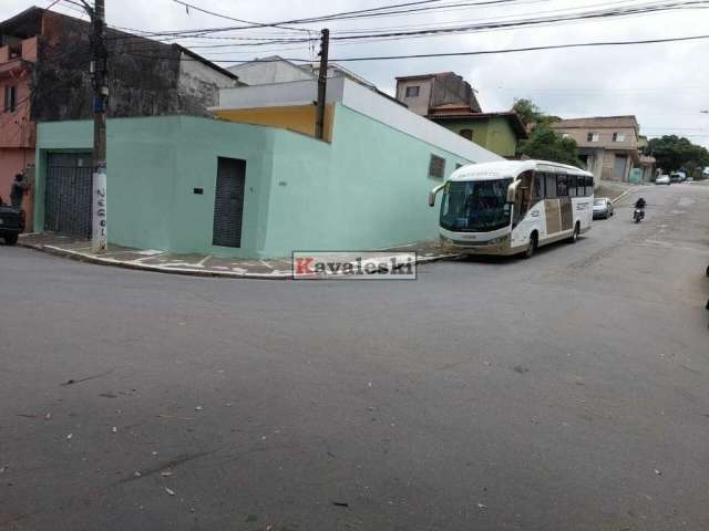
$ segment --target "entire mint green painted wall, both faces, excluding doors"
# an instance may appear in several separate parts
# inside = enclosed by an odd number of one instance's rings
[[[286,257],[294,250],[363,250],[438,237],[428,194],[431,154],[448,177],[470,160],[342,105],[331,144],[273,127],[166,116],[107,124],[109,242],[173,252]],[[91,149],[91,122],[38,128],[38,230],[44,160]],[[246,159],[242,248],[212,246],[218,157]],[[203,188],[204,195],[195,195]]]

